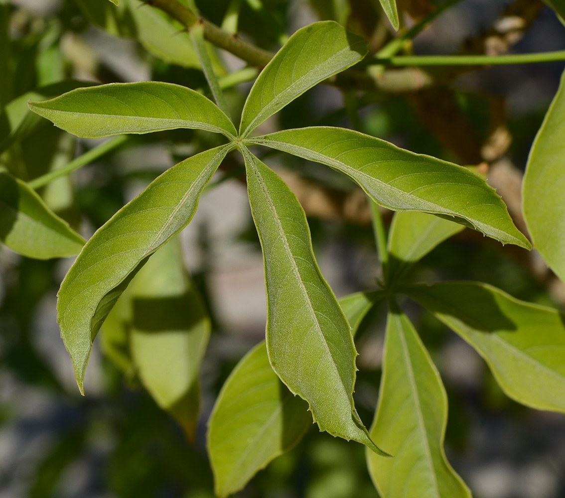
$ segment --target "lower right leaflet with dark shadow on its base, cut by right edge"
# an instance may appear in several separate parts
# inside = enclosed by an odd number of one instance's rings
[[[532,408],[565,412],[565,316],[484,283],[403,289],[486,360],[502,389]]]

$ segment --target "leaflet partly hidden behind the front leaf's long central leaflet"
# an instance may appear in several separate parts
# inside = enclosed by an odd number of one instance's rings
[[[370,291],[339,300],[353,335],[381,298],[381,292]],[[216,495],[241,490],[258,470],[298,444],[312,423],[307,409],[273,372],[264,341],[247,353],[225,381],[208,421]]]

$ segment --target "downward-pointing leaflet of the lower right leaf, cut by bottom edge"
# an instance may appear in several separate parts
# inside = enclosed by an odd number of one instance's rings
[[[393,305],[386,324],[383,378],[371,437],[393,453],[367,452],[383,498],[471,498],[444,452],[447,395],[410,320]]]

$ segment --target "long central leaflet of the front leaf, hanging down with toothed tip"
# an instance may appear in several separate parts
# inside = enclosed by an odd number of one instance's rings
[[[308,401],[320,430],[386,455],[369,438],[353,405],[357,352],[344,313],[316,264],[306,215],[281,178],[245,147],[242,151],[263,248],[273,370]]]

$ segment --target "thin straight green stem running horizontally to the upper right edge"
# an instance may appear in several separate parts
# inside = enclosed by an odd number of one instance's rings
[[[373,64],[394,66],[529,64],[565,60],[565,50],[507,55],[397,55],[374,59]]]

